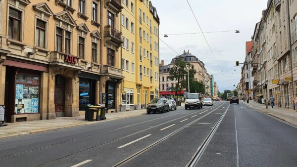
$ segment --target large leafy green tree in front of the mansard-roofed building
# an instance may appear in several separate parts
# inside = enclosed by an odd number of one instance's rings
[[[191,64],[188,62],[183,61],[181,58],[177,59],[177,61],[174,63],[174,66],[170,68],[169,72],[169,79],[172,81],[177,81],[177,84],[175,87],[172,87],[172,90],[175,91],[181,91],[185,87],[185,77],[188,75],[188,72],[186,69],[189,69],[191,67]]]

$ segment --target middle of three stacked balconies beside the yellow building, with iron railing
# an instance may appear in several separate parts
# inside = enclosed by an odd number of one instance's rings
[[[119,48],[123,44],[122,33],[109,25],[104,27],[104,38],[105,45],[107,42],[111,42]]]

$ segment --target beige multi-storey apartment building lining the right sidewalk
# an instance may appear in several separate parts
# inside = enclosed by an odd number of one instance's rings
[[[255,95],[276,98],[279,107],[294,108],[297,92],[297,1],[268,0],[252,36]]]

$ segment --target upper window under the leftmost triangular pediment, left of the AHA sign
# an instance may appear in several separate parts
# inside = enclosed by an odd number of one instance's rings
[[[36,46],[45,48],[45,38],[46,38],[46,22],[37,19],[36,32],[35,32]]]

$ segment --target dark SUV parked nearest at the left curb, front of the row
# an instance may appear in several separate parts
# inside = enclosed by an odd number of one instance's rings
[[[164,111],[169,112],[169,103],[166,98],[156,98],[152,99],[147,107],[147,113],[150,114],[150,112],[161,112],[164,113]]]

